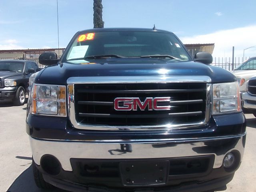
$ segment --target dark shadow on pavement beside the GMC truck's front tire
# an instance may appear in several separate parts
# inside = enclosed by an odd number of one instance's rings
[[[32,165],[30,165],[10,186],[6,192],[68,192],[61,189],[44,190],[36,186],[33,178]]]

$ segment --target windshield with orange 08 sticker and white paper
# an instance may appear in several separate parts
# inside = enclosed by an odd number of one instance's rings
[[[161,58],[192,60],[172,33],[156,31],[98,31],[76,36],[64,60],[100,58]]]

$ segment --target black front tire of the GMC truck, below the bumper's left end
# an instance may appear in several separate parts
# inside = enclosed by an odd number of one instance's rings
[[[35,180],[36,186],[38,186],[38,188],[41,188],[41,189],[54,188],[53,185],[51,185],[50,183],[48,183],[44,180],[43,175],[36,167],[36,163],[34,162],[33,158],[32,158],[32,169],[33,169],[34,180]]]

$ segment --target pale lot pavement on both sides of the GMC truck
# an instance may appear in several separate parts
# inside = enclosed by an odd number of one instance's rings
[[[32,154],[25,129],[26,104],[13,106],[0,101],[0,191],[64,192],[41,190],[32,176]],[[256,192],[256,118],[246,114],[247,138],[244,158],[223,192]]]

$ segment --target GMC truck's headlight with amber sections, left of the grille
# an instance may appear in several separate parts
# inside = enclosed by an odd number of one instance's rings
[[[30,113],[66,116],[66,86],[34,84]]]

